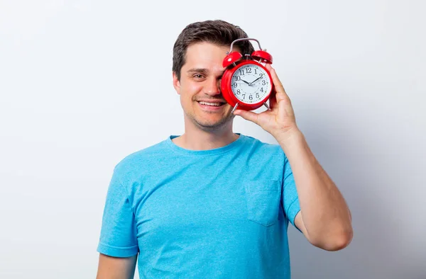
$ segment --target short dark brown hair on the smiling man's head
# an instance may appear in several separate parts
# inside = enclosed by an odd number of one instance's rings
[[[180,80],[180,69],[185,64],[187,47],[197,42],[211,42],[215,45],[231,45],[236,39],[248,38],[246,32],[239,26],[226,21],[200,21],[187,25],[173,46],[173,72]],[[253,45],[248,40],[234,43],[239,47],[242,55],[251,54],[254,51]]]

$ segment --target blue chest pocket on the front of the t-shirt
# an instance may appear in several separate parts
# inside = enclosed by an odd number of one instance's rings
[[[278,222],[281,183],[273,180],[248,181],[244,186],[247,218],[265,227]]]

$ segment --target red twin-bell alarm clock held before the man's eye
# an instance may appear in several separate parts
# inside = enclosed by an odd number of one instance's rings
[[[251,55],[241,55],[232,51],[235,42],[241,40],[254,40],[260,50],[255,50]],[[273,88],[271,73],[263,64],[272,64],[272,56],[262,50],[260,42],[253,38],[242,38],[231,43],[231,49],[226,52],[222,62],[225,68],[222,75],[221,91],[224,99],[233,107],[241,110],[256,110],[261,106],[269,109],[268,101]]]

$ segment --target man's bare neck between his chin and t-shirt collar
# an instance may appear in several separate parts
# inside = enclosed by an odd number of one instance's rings
[[[222,129],[206,131],[198,127],[187,127],[185,133],[180,137],[175,137],[173,142],[190,150],[209,150],[224,147],[239,138],[239,135],[232,132],[232,123],[222,127]]]

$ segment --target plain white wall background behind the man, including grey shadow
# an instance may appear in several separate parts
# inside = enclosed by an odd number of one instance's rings
[[[112,169],[183,132],[173,43],[207,19],[240,25],[273,55],[300,130],[351,207],[354,240],[342,251],[290,230],[293,278],[426,278],[425,10],[1,0],[0,278],[95,277]],[[275,142],[241,118],[234,127]]]

